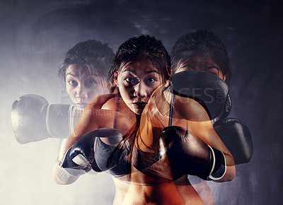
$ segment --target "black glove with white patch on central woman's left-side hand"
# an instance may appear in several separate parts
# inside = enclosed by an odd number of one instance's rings
[[[101,128],[81,136],[69,148],[59,165],[73,176],[82,175],[91,168],[96,172],[102,172],[115,168],[129,152],[129,144],[124,143],[120,131]],[[115,171],[121,172],[117,168]]]

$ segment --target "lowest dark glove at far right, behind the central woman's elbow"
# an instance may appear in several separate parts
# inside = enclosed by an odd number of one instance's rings
[[[246,124],[227,118],[214,122],[213,127],[231,152],[235,164],[248,163],[253,156],[253,139]]]

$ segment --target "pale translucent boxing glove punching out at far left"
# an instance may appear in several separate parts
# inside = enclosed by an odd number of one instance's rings
[[[13,102],[11,122],[20,144],[47,138],[67,138],[74,129],[74,105],[52,104],[40,95],[23,95]]]

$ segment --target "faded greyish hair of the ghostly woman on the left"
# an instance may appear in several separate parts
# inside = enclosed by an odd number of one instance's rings
[[[112,49],[98,40],[79,42],[64,55],[58,74],[66,80],[66,69],[76,65],[106,78],[113,58]]]

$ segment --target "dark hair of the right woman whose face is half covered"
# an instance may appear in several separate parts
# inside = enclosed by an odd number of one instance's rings
[[[208,30],[194,30],[178,38],[171,51],[173,71],[178,69],[180,64],[186,64],[190,55],[198,52],[208,53],[226,76],[226,81],[229,81],[231,71],[226,47],[217,35]]]

